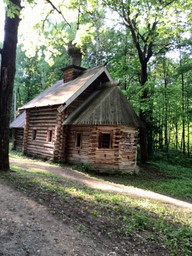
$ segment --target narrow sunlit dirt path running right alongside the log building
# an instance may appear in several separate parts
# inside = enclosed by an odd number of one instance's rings
[[[188,209],[192,209],[192,204],[190,203],[187,203],[169,196],[164,196],[158,193],[154,193],[153,191],[147,191],[140,188],[134,188],[129,186],[118,185],[115,183],[95,180],[89,177],[88,175],[82,172],[72,170],[71,168],[54,166],[49,163],[37,162],[33,160],[30,160],[30,162],[26,162],[25,159],[15,159],[15,158],[10,158],[10,163],[16,164],[21,167],[28,167],[29,169],[31,168],[41,169],[43,171],[48,171],[54,174],[58,174],[66,178],[70,178],[70,179],[74,179],[79,182],[82,182],[85,185],[90,186],[92,188],[115,191],[117,193],[123,193],[133,197],[150,198],[156,201],[161,201],[161,202],[164,201],[169,204],[174,204],[181,207],[187,207]]]

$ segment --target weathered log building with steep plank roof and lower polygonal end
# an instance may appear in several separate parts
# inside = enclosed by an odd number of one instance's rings
[[[23,153],[98,170],[132,172],[142,123],[105,64],[63,68],[63,79],[28,102]]]

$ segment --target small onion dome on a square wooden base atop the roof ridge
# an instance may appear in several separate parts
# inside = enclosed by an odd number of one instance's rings
[[[67,46],[67,53],[71,58],[71,65],[61,69],[63,71],[63,83],[74,80],[79,73],[86,69],[81,67],[83,52],[80,48],[76,47],[76,44],[72,44],[72,42],[70,41]]]

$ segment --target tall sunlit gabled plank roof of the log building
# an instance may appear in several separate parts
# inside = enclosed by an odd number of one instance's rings
[[[82,71],[73,81],[63,83],[63,80],[55,82],[51,87],[39,94],[33,100],[29,101],[19,110],[54,106],[64,104],[67,107],[74,99],[78,97],[95,79],[97,79],[102,73],[105,73],[108,81],[111,81],[106,67],[103,65],[86,69]]]

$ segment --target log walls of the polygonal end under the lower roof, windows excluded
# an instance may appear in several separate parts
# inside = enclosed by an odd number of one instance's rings
[[[65,162],[88,163],[98,170],[132,172],[136,166],[138,129],[126,126],[65,126],[68,129]],[[82,132],[82,147],[75,146]],[[111,148],[99,148],[99,134],[111,134]]]

